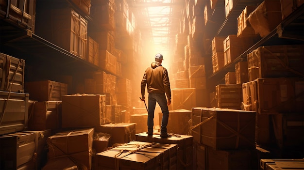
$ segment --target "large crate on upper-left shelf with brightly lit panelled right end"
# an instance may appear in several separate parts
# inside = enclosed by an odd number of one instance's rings
[[[87,21],[72,8],[44,9],[37,18],[38,36],[86,60]]]

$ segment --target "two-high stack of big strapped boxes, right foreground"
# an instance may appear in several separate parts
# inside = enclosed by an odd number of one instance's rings
[[[255,114],[234,109],[192,108],[197,165],[206,170],[253,168]]]

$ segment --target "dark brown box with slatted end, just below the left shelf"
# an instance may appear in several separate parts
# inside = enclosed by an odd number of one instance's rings
[[[30,93],[30,99],[38,102],[61,101],[68,94],[68,85],[51,80],[25,82],[24,91]]]

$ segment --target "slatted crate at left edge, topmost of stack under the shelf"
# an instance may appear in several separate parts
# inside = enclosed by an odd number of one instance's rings
[[[0,53],[0,91],[24,91],[25,60]]]

